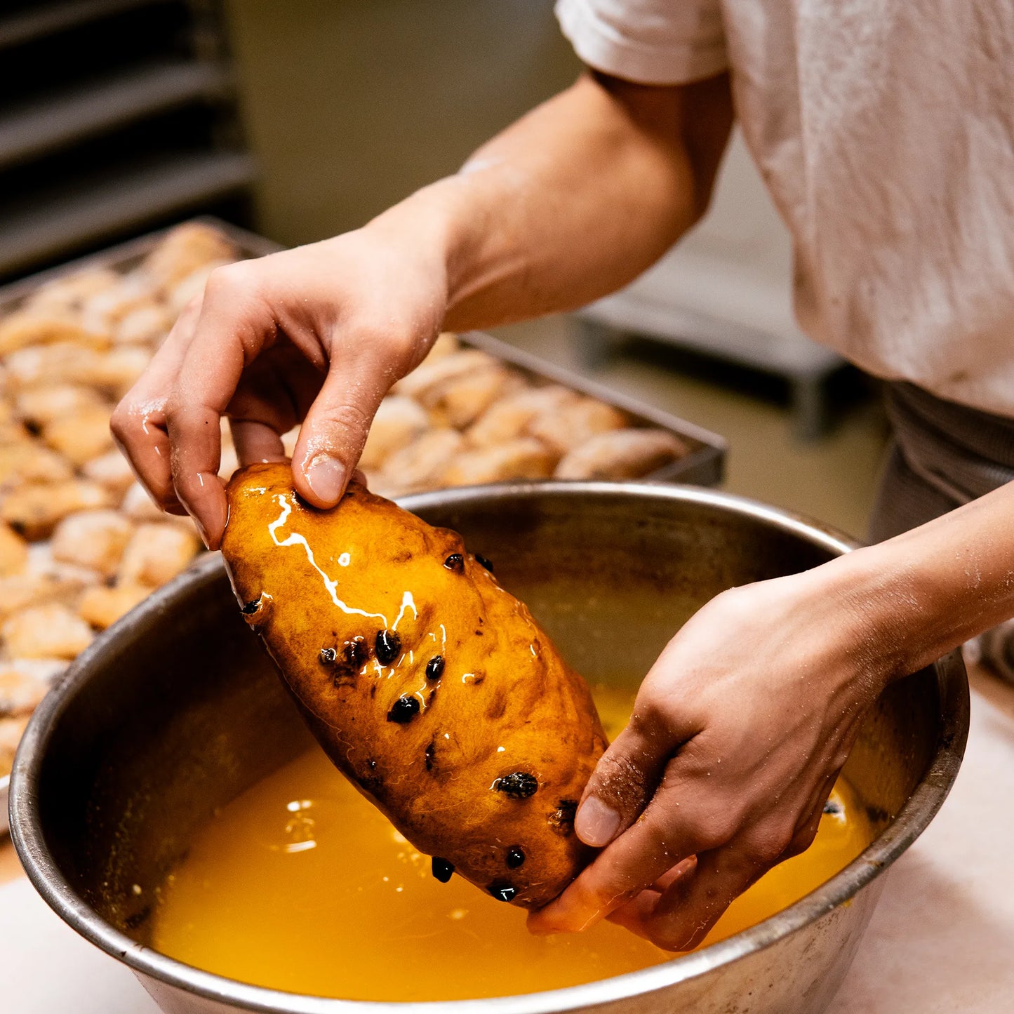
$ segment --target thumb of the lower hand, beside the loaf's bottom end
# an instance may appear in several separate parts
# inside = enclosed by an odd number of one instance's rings
[[[581,797],[574,829],[585,845],[602,849],[637,820],[674,746],[664,724],[631,719],[600,757]]]

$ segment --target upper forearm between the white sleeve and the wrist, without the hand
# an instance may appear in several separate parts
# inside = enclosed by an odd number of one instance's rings
[[[700,217],[730,123],[724,78],[648,88],[586,75],[368,228],[441,251],[448,328],[571,309]]]

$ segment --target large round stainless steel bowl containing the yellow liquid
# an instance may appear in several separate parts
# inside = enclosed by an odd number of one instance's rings
[[[853,546],[784,511],[679,487],[484,487],[406,506],[457,528],[493,559],[571,662],[596,679],[645,671],[679,624],[722,589],[813,567]],[[823,1010],[834,995],[884,869],[947,795],[967,727],[956,654],[891,686],[846,769],[879,829],[874,843],[779,915],[665,964],[565,990],[450,1003],[261,989],[145,946],[154,888],[193,832],[306,742],[209,557],[98,638],[35,712],[15,759],[11,826],[50,906],[128,964],[167,1014],[795,1014]]]

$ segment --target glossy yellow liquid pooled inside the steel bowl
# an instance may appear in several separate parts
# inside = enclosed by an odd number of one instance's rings
[[[594,687],[609,737],[627,692]],[[871,839],[850,787],[810,849],[763,877],[712,930],[713,943],[791,904]],[[160,890],[152,945],[229,979],[351,1000],[458,1000],[558,989],[672,957],[601,923],[531,936],[525,913],[421,855],[312,749],[258,783],[196,837]]]

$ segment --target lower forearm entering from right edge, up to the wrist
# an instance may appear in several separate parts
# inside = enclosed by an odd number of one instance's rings
[[[1014,617],[1014,484],[827,569],[886,680]],[[875,656],[875,660],[873,658]]]

